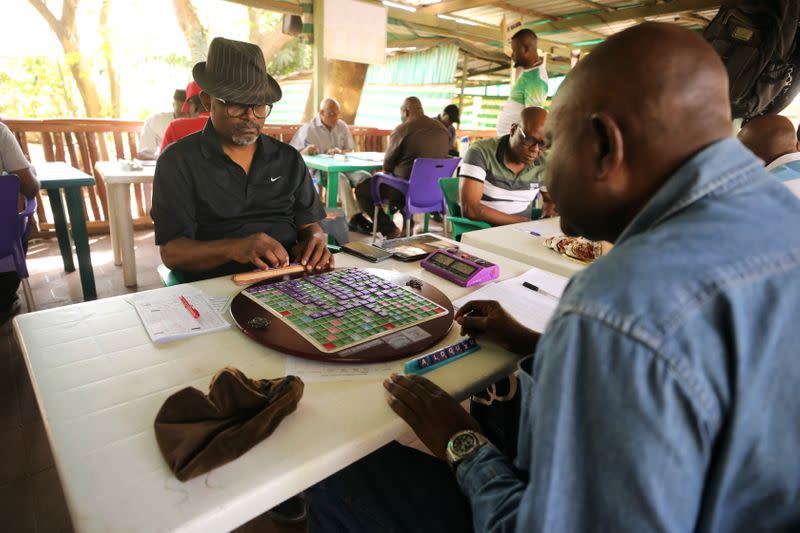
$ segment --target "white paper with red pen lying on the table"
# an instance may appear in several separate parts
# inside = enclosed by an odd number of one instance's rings
[[[194,318],[184,307],[180,297],[185,297],[200,313]],[[230,327],[222,315],[212,307],[206,294],[191,285],[176,285],[158,291],[135,294],[128,298],[142,321],[150,340],[155,343],[183,339],[203,333],[221,331]]]

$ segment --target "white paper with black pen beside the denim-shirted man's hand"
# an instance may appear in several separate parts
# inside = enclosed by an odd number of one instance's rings
[[[520,324],[534,331],[542,332],[556,310],[558,300],[524,287],[522,284],[526,281],[561,297],[569,279],[552,272],[532,268],[516,278],[485,285],[477,291],[455,300],[453,305],[458,308],[472,300],[497,300]]]

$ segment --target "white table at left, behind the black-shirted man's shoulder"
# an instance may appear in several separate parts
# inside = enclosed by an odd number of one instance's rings
[[[94,166],[108,191],[108,223],[114,264],[122,265],[126,287],[136,286],[136,253],[133,245],[131,184],[153,183],[155,165],[131,170],[127,161],[98,161]]]

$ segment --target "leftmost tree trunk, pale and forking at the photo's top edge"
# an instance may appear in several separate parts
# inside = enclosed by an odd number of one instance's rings
[[[86,116],[100,116],[100,98],[97,95],[97,88],[91,77],[91,65],[81,55],[80,40],[76,31],[75,12],[78,10],[80,0],[63,0],[61,7],[61,19],[57,19],[44,0],[28,0],[36,8],[40,15],[47,21],[50,29],[58,37],[61,47],[64,49],[64,59],[69,67],[78,92],[83,99],[86,108]]]

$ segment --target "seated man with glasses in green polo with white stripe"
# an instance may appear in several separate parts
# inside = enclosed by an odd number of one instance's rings
[[[512,124],[510,134],[470,145],[459,172],[465,217],[492,226],[528,221],[540,190],[543,213],[550,216],[554,212],[550,195],[541,184],[547,111],[527,107],[520,118],[518,124]]]

